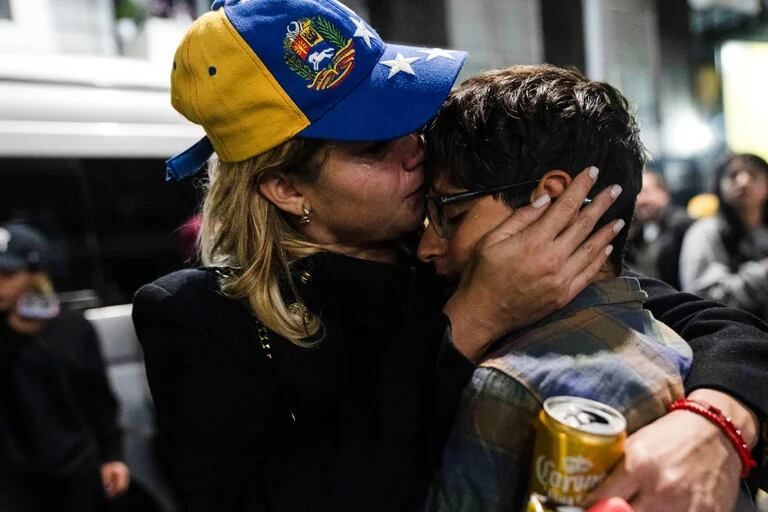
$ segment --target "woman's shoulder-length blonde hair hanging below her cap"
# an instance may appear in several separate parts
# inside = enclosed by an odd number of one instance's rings
[[[319,246],[299,233],[259,192],[261,181],[283,174],[303,182],[317,179],[322,162],[317,155],[325,143],[291,139],[242,162],[212,161],[205,186],[200,248],[204,265],[227,267],[221,289],[246,303],[271,331],[299,346],[312,346],[322,324],[304,307],[291,277],[298,258],[315,254]],[[286,283],[294,302],[286,304]]]

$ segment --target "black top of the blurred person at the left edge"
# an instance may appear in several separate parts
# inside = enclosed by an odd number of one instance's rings
[[[0,316],[0,465],[65,478],[120,460],[116,413],[87,320],[62,313],[25,336]]]

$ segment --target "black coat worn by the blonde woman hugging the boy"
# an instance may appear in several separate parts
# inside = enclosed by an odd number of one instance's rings
[[[423,497],[473,371],[443,341],[430,273],[332,254],[299,267],[312,276],[300,293],[322,310],[327,336],[308,350],[271,334],[274,366],[214,273],[177,272],[136,295],[160,435],[189,512],[407,511]],[[768,383],[752,380],[756,359],[723,357],[748,346],[764,363],[765,326],[643,284],[657,318],[691,341],[692,386],[768,410]]]

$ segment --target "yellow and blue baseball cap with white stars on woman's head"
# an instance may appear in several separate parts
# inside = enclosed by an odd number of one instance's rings
[[[385,43],[335,0],[216,0],[182,39],[171,103],[206,137],[167,161],[168,179],[212,152],[238,162],[291,137],[386,140],[437,113],[465,52]]]

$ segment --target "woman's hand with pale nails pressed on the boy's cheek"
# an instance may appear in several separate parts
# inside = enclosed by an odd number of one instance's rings
[[[616,195],[604,190],[581,208],[597,177],[592,169],[574,178],[555,204],[515,210],[478,243],[443,308],[466,357],[477,359],[494,340],[562,308],[603,267],[616,231],[608,225],[589,235]]]

